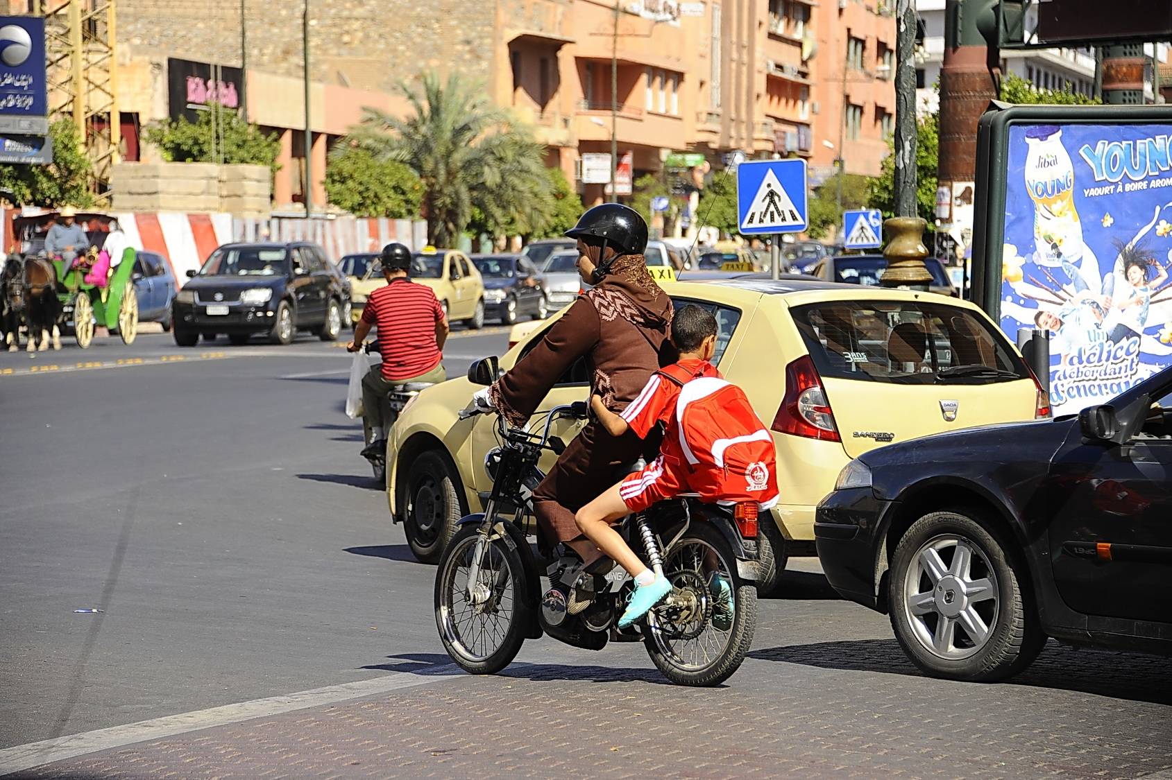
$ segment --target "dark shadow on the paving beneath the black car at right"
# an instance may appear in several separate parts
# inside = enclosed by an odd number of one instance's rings
[[[752,650],[749,657],[820,669],[922,676],[895,639],[795,644]],[[1172,704],[1172,659],[1115,650],[1076,650],[1051,641],[1026,671],[1000,684]]]

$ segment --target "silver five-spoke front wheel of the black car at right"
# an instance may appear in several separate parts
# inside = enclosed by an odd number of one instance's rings
[[[1045,643],[1010,547],[976,519],[934,512],[899,540],[887,611],[904,652],[934,677],[992,682],[1028,666]]]

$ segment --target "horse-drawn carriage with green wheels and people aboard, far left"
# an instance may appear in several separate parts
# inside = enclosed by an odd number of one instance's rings
[[[67,217],[76,219],[88,246],[81,252],[47,247],[49,230]],[[16,255],[4,268],[4,338],[19,345],[20,326],[28,333],[28,351],[46,349],[52,336],[61,348],[62,327],[73,330],[77,345],[90,345],[96,327],[117,333],[123,343],[138,335],[138,300],[132,274],[135,248],[116,217],[62,210],[14,220]]]

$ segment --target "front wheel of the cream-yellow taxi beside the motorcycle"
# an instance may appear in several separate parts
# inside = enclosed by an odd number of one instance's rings
[[[438,450],[425,451],[407,467],[403,532],[420,562],[437,562],[456,533],[464,514],[459,491],[455,466]]]

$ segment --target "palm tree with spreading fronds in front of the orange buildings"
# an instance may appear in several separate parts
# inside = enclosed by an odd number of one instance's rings
[[[414,115],[366,109],[350,139],[418,175],[432,245],[454,246],[475,212],[495,233],[543,230],[552,212],[550,179],[543,146],[527,128],[455,74],[442,83],[425,73],[420,88],[404,82],[398,89]]]

